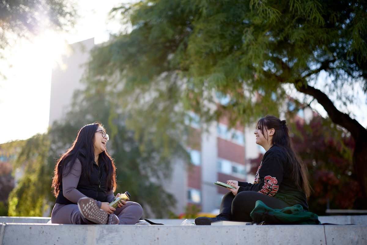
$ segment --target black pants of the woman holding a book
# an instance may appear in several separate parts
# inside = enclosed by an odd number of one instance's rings
[[[221,202],[221,216],[228,220],[251,222],[251,211],[255,208],[257,200],[264,202],[272,209],[283,209],[289,207],[285,202],[275,197],[269,197],[256,191],[241,191],[236,196],[232,192],[224,195]]]

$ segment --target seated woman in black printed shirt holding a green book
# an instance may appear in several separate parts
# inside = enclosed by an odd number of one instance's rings
[[[275,116],[259,120],[256,143],[266,150],[253,184],[228,180],[235,189],[224,195],[220,214],[215,218],[197,217],[197,225],[210,225],[220,220],[252,221],[251,211],[260,200],[272,209],[283,209],[296,204],[308,210],[310,185],[307,167],[294,150],[286,121]]]

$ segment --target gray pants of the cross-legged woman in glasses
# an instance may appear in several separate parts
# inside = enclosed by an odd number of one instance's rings
[[[120,224],[135,224],[143,215],[143,209],[137,202],[126,202],[122,208],[113,212],[119,217]],[[80,217],[78,205],[56,203],[52,209],[52,224],[86,224]]]

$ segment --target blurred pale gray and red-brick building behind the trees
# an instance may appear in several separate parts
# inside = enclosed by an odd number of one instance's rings
[[[72,52],[62,58],[63,64],[52,70],[50,126],[67,111],[74,91],[83,89],[80,80],[84,74],[84,64],[94,46],[93,38],[71,44]],[[225,103],[226,97],[217,98],[218,103]],[[219,122],[206,125],[208,130],[202,132],[198,116],[193,112],[188,114],[192,120],[187,123],[194,132],[187,145],[192,165],[175,159],[171,180],[165,185],[177,200],[177,215],[185,212],[185,207],[190,204],[196,205],[201,212],[218,214],[221,199],[228,190],[213,183],[226,183],[230,179],[252,183],[254,175],[249,173],[250,159],[258,158],[265,150],[255,144],[255,126],[247,128],[237,125],[229,130],[229,121],[223,117]]]

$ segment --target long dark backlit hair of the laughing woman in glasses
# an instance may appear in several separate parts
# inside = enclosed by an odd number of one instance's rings
[[[55,170],[54,170],[54,178],[52,180],[52,187],[54,188],[54,195],[57,197],[59,194],[59,187],[62,182],[62,176],[70,173],[76,158],[79,155],[80,150],[83,150],[83,153],[86,156],[87,164],[82,166],[81,173],[84,174],[86,179],[90,180],[92,166],[94,163],[94,136],[98,127],[101,127],[104,131],[104,127],[99,122],[95,122],[92,124],[88,124],[82,127],[79,130],[78,135],[76,136],[75,141],[72,146],[66,150],[64,154],[61,155],[61,158],[56,162]],[[105,162],[106,170],[107,170],[107,180],[106,185],[108,190],[116,190],[116,167],[113,159],[111,158],[107,149],[99,154],[98,161]]]

